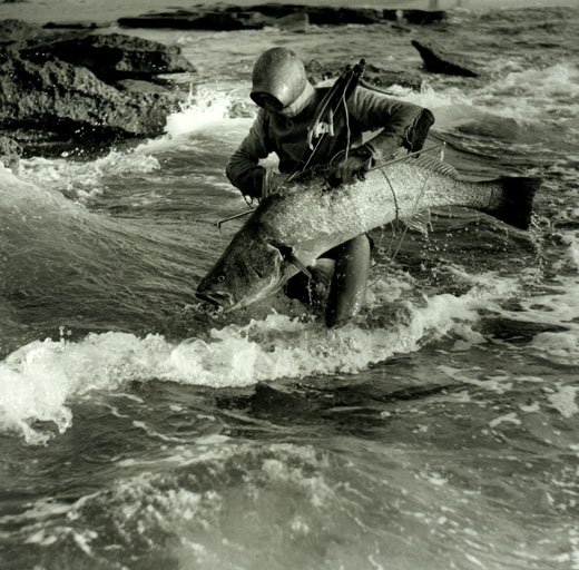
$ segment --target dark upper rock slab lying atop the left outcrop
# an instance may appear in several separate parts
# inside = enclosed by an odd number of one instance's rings
[[[180,48],[120,33],[51,39],[21,50],[21,55],[37,62],[58,58],[82,66],[109,83],[121,79],[149,79],[159,73],[195,71],[180,55]]]

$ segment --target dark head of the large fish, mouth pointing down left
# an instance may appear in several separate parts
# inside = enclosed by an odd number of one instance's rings
[[[242,232],[200,281],[196,296],[234,311],[277,293],[295,273],[277,244]]]

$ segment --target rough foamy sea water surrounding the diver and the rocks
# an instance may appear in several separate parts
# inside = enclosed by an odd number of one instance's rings
[[[578,31],[577,8],[130,30],[198,69],[166,135],[0,168],[2,570],[579,569]],[[282,296],[213,314],[194,291],[246,207],[224,168],[255,57],[419,69],[413,37],[485,77],[394,95],[464,176],[543,178],[530,232],[375,232],[340,328]]]

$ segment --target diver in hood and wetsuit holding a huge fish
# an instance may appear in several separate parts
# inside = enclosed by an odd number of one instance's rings
[[[271,153],[279,158],[283,179],[304,167],[331,165],[336,184],[352,184],[401,148],[420,150],[434,122],[428,109],[355,87],[347,100],[345,96],[337,99],[335,110],[342,112],[314,141],[312,153],[308,132],[328,88],[314,88],[300,58],[286,48],[262,53],[252,81],[251,97],[261,109],[226,168],[232,184],[251,198],[262,199],[281,184],[279,175],[259,165]],[[363,144],[363,135],[376,129],[380,132]],[[326,301],[327,326],[346,322],[363,305],[370,249],[369,237],[361,235],[324,255],[335,261]]]

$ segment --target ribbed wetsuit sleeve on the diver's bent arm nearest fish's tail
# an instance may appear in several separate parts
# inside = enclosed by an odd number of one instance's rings
[[[420,150],[434,122],[429,109],[386,97],[357,87],[349,104],[349,111],[363,131],[382,130],[364,147],[374,160],[382,160],[400,147]]]

